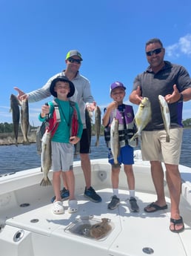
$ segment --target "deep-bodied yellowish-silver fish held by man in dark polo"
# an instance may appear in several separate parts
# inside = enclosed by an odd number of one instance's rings
[[[148,122],[151,120],[151,106],[150,100],[147,97],[144,97],[141,100],[141,103],[138,105],[138,111],[135,114],[134,122],[137,127],[137,132],[130,139],[130,142],[135,140],[138,136],[141,136],[141,131],[146,127]]]

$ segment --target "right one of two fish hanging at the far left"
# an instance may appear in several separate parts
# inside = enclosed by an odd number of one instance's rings
[[[23,141],[24,145],[30,145],[30,142],[27,137],[29,130],[30,130],[30,124],[29,124],[28,100],[22,99],[21,100],[21,131],[24,138],[24,141]]]

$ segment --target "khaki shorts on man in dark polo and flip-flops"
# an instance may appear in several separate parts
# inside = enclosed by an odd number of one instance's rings
[[[166,142],[166,131],[142,131],[141,153],[144,161],[160,161],[178,165],[181,155],[183,128],[170,129],[170,142]]]

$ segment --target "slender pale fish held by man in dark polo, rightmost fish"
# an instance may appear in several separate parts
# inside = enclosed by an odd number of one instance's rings
[[[161,115],[164,122],[164,129],[167,132],[166,142],[170,142],[170,110],[164,96],[158,95],[158,101],[161,107]]]

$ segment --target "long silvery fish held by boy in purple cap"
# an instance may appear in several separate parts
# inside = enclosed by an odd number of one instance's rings
[[[118,140],[118,119],[115,117],[110,126],[110,147],[113,154],[114,165],[118,165],[119,140]]]

